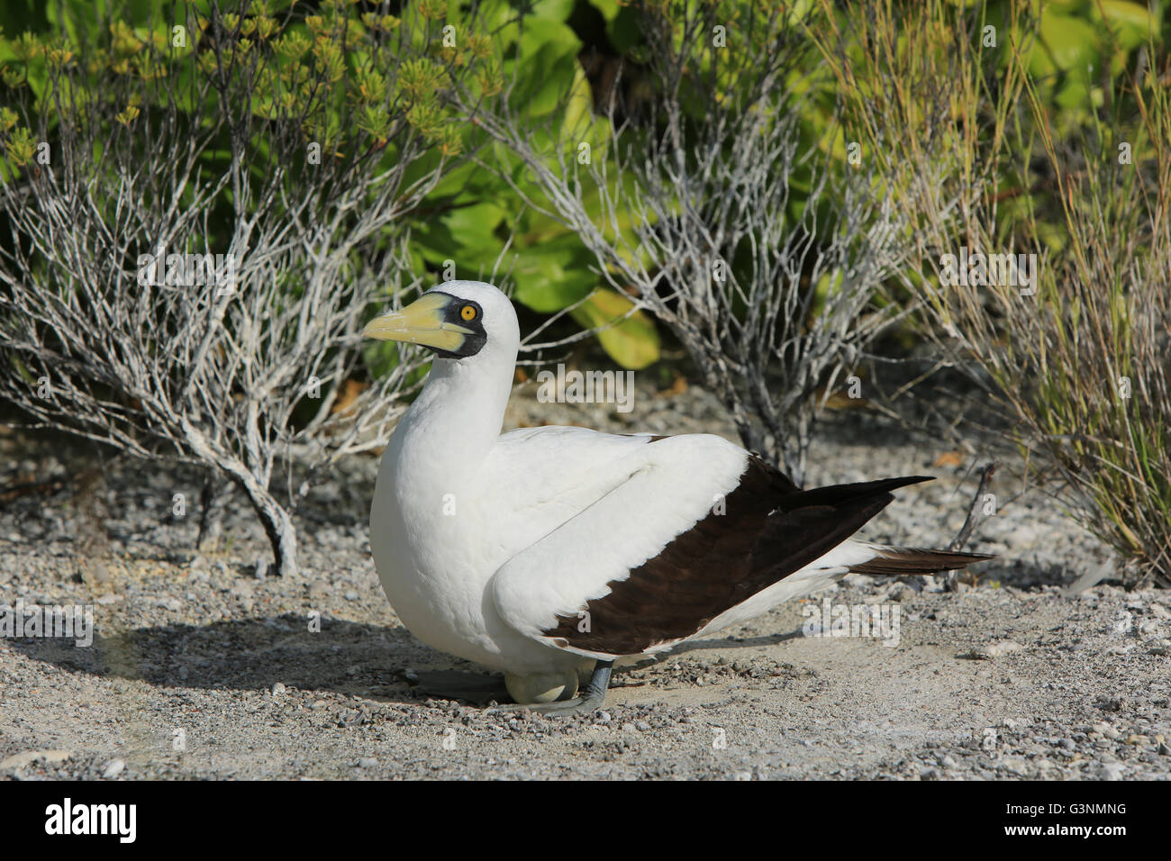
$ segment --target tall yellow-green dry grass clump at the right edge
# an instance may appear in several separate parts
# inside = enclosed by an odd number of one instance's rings
[[[874,180],[918,213],[912,235],[931,237],[903,283],[925,305],[925,330],[973,378],[991,378],[1014,440],[1063,479],[1047,488],[1118,552],[1130,582],[1171,585],[1165,53],[1149,46],[1155,60],[1108,83],[1105,107],[1062,136],[1046,82],[1026,71],[1027,46],[1009,37],[1032,32],[1027,8],[1011,13],[1020,26],[1001,26],[995,50],[981,46],[979,6],[966,18],[944,4],[856,12],[855,29],[822,50]],[[909,47],[900,33],[919,35]],[[843,60],[849,39],[864,49]],[[940,165],[947,183],[929,182]],[[1036,254],[1035,292],[944,286],[944,255],[963,246]]]

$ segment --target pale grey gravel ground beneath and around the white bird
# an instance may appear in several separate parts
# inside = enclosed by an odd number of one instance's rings
[[[697,387],[605,405],[513,397],[509,424],[735,435]],[[945,545],[974,492],[980,443],[949,452],[863,410],[834,414],[809,484],[911,473],[863,532]],[[91,451],[0,435],[0,486],[93,466]],[[958,463],[957,463],[958,462]],[[486,713],[434,701],[415,671],[471,664],[399,623],[370,559],[374,458],[309,488],[301,573],[258,579],[267,545],[240,497],[214,552],[196,552],[182,467],[119,462],[85,498],[69,485],[0,501],[0,603],[91,604],[89,648],[0,637],[0,777],[1165,779],[1171,773],[1171,595],[1109,581],[1109,552],[1013,464],[970,548],[999,558],[943,592],[851,575],[726,636],[619,671],[604,711]],[[88,501],[85,501],[88,499]],[[95,513],[96,512],[96,513]],[[98,527],[95,528],[95,522]],[[1090,580],[1094,578],[1090,576]],[[808,613],[878,604],[897,644],[804,636]],[[308,630],[320,613],[320,631]],[[816,633],[816,631],[814,631]]]

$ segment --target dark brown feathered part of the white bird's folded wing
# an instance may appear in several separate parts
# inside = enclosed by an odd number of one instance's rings
[[[804,567],[852,535],[893,497],[927,477],[796,490],[752,457],[724,513],[708,513],[653,559],[589,601],[589,626],[559,615],[546,635],[559,645],[637,655],[689,637],[725,610]],[[588,627],[589,630],[578,630]]]

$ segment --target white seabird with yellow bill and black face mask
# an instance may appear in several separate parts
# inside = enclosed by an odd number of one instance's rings
[[[925,477],[802,491],[710,433],[501,435],[520,327],[492,285],[439,285],[363,334],[436,353],[383,453],[370,508],[386,597],[424,643],[502,671],[518,703],[597,708],[615,660],[742,622],[850,572],[988,559],[850,540],[891,490]]]

